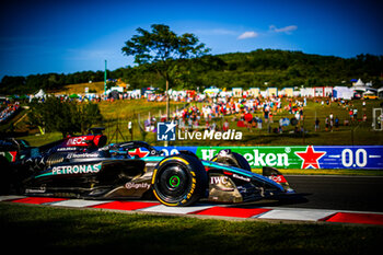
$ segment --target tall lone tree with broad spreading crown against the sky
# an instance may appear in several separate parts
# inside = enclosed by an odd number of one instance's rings
[[[121,50],[126,56],[135,56],[136,63],[154,69],[166,81],[166,115],[169,118],[169,83],[177,65],[182,62],[179,60],[201,57],[210,49],[199,43],[194,34],[185,33],[178,36],[167,25],[162,24],[153,24],[151,28],[151,32],[141,27],[137,28],[138,35],[127,40]]]

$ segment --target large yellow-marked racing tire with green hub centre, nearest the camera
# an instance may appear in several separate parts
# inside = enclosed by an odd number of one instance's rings
[[[185,207],[204,197],[208,176],[201,162],[177,154],[162,160],[152,176],[153,194],[165,206]]]

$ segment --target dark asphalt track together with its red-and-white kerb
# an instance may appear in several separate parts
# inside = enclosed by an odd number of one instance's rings
[[[383,177],[287,176],[295,195],[248,204],[166,207],[158,201],[0,196],[0,201],[195,217],[383,225]]]

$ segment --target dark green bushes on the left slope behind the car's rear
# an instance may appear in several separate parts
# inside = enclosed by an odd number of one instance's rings
[[[44,103],[34,101],[31,108],[31,125],[45,128],[46,131],[59,131],[62,137],[76,132],[84,134],[93,124],[102,120],[97,104],[78,104],[55,96],[48,96]]]

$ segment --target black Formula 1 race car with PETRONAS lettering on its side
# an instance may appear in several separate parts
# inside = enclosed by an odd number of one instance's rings
[[[264,167],[263,175],[252,173],[247,161],[231,150],[202,161],[189,151],[165,157],[142,141],[105,143],[106,137],[98,132],[33,148],[26,157],[9,163],[15,173],[13,187],[28,196],[154,196],[166,206],[189,206],[200,199],[255,201],[294,193],[276,169]]]

